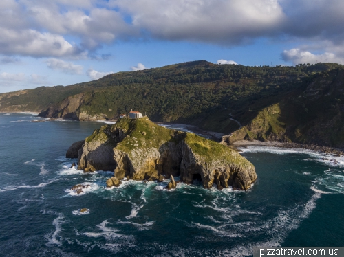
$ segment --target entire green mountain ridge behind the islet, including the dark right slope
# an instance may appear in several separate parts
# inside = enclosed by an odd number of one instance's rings
[[[200,60],[109,74],[67,87],[3,93],[0,111],[41,111],[45,118],[107,120],[134,109],[157,122],[233,133],[230,139],[225,138],[228,143],[245,138],[277,139],[344,147],[343,82],[343,66],[332,63],[249,67]],[[275,104],[282,110],[271,123],[271,115],[259,113]],[[266,126],[252,125],[259,115]],[[244,126],[240,132],[233,118]],[[338,136],[330,126],[336,128]]]

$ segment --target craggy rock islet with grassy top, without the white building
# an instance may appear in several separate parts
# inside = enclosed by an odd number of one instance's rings
[[[120,180],[162,181],[173,177],[192,183],[202,179],[204,188],[247,190],[257,179],[255,167],[235,150],[193,133],[174,131],[149,118],[121,118],[116,124],[96,129],[85,142],[69,148],[69,157],[78,155],[78,169],[85,172],[114,170],[107,186]]]

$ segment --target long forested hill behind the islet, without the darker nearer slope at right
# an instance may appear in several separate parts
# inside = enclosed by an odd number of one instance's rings
[[[239,128],[230,115],[243,125],[249,124],[264,108],[302,95],[312,83],[337,80],[342,71],[342,65],[332,63],[249,67],[200,60],[119,72],[67,87],[3,93],[0,111],[42,111],[45,117],[94,120],[116,119],[133,109],[146,113],[151,120],[183,122],[229,133]],[[319,101],[323,101],[326,90],[330,89],[316,91],[321,92]],[[341,106],[342,95],[336,96],[338,100],[328,95],[331,99],[326,101]],[[306,104],[303,96],[297,99]],[[301,107],[312,109],[302,103]]]

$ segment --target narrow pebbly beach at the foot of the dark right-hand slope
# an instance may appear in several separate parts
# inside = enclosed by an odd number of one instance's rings
[[[331,146],[319,146],[317,144],[299,144],[299,143],[285,143],[285,142],[278,142],[278,141],[267,141],[261,142],[259,140],[238,140],[231,144],[230,146],[237,147],[245,147],[245,146],[270,146],[270,147],[281,147],[281,148],[299,148],[299,149],[307,149],[307,150],[314,150],[319,153],[326,153],[335,156],[344,155],[343,149],[334,148]]]

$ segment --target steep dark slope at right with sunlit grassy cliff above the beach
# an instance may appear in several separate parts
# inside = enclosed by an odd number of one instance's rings
[[[344,148],[343,111],[344,70],[333,69],[314,75],[276,104],[259,110],[224,142],[258,139]]]

